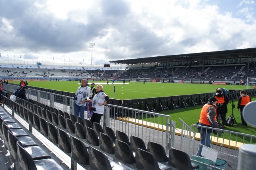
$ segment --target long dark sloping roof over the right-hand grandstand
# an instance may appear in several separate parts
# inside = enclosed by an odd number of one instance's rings
[[[197,61],[202,59],[235,59],[245,57],[256,57],[256,48],[246,49],[232,49],[225,51],[212,51],[203,53],[189,53],[189,54],[177,54],[177,55],[164,55],[157,57],[145,57],[137,59],[123,59],[110,61],[115,64],[146,64],[146,63],[166,63],[166,62],[178,62],[178,61]]]

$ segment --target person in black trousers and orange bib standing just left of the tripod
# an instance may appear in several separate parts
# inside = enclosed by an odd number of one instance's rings
[[[222,88],[217,88],[216,93],[214,93],[213,97],[215,97],[217,101],[217,119],[220,123],[220,120],[222,119],[222,127],[225,127],[226,123],[226,113],[228,113],[228,102],[229,98],[226,96],[226,94],[222,91]]]

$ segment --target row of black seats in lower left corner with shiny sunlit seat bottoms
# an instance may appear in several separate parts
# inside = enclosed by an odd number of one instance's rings
[[[6,103],[8,99],[4,97]],[[4,109],[0,108],[0,136],[3,141],[5,152],[8,156],[9,166],[14,164],[14,169],[64,169],[43,148],[30,137],[14,117],[10,116]],[[6,154],[8,155],[8,154]],[[6,167],[10,168],[10,167]]]

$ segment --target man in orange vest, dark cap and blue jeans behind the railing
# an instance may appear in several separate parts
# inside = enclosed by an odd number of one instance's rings
[[[216,103],[217,99],[215,97],[210,97],[208,103],[206,103],[201,111],[200,119],[197,123],[197,125],[205,126],[205,127],[213,127],[218,128],[218,122],[216,122],[217,114],[216,114]],[[197,127],[198,132],[200,132],[200,147],[198,152],[196,153],[196,156],[201,156],[203,145],[207,146],[208,148],[211,148],[211,138],[210,135],[215,130]]]

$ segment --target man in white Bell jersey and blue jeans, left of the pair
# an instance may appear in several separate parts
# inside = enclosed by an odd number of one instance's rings
[[[80,116],[84,120],[84,110],[86,107],[86,99],[91,96],[91,89],[86,79],[82,79],[81,86],[78,87],[74,96],[74,115]]]

